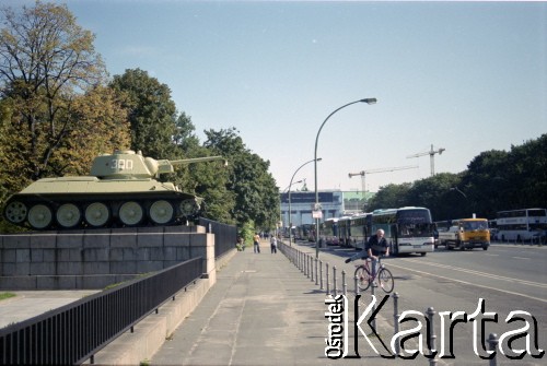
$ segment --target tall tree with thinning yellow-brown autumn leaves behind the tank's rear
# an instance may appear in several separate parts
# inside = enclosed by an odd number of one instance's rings
[[[88,173],[97,153],[129,142],[129,126],[121,97],[102,86],[106,71],[93,34],[66,5],[36,1],[0,15],[3,206],[36,179]],[[14,229],[0,219],[0,231]]]

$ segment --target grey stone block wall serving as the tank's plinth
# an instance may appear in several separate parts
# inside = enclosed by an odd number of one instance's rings
[[[214,235],[202,226],[0,235],[0,290],[100,290],[196,257],[214,283]]]

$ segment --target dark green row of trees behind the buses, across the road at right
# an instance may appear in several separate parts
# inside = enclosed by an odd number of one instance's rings
[[[512,146],[477,155],[465,172],[442,173],[414,184],[382,187],[369,202],[374,209],[421,205],[433,220],[493,219],[496,212],[545,208],[547,202],[547,134]]]

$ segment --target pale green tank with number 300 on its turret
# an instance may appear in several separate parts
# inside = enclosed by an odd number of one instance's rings
[[[202,199],[155,178],[177,165],[211,161],[224,158],[156,161],[115,151],[95,157],[90,176],[36,180],[8,199],[3,214],[37,231],[186,224],[199,215]]]

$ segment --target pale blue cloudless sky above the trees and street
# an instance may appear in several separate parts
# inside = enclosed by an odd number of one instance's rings
[[[376,191],[429,177],[432,145],[434,172],[459,173],[547,132],[547,2],[62,3],[110,75],[166,84],[201,142],[236,128],[282,191],[293,176],[314,189],[316,139],[319,190],[361,190],[349,173],[373,170]]]

